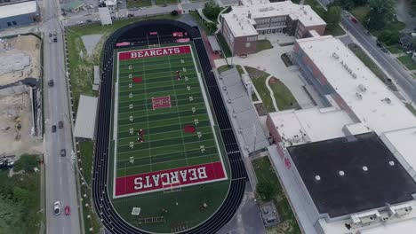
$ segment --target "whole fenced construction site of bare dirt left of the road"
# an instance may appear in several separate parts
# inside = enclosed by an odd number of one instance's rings
[[[43,153],[41,45],[36,35],[0,39],[0,157]]]

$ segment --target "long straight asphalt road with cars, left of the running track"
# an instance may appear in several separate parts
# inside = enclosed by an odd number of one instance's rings
[[[60,8],[56,0],[44,0],[44,118],[45,118],[45,154],[46,169],[46,232],[52,234],[80,233],[78,203],[76,197],[76,177],[70,162],[72,151],[71,124],[68,111],[68,92],[64,72],[63,37],[60,24],[55,15]],[[46,20],[45,20],[46,19]],[[57,43],[49,42],[49,32],[57,33]],[[53,36],[52,36],[53,38]],[[54,87],[47,85],[54,81]],[[58,121],[63,121],[64,128],[58,128]],[[52,133],[52,125],[57,131]],[[66,149],[67,156],[60,156],[60,149]],[[61,214],[53,214],[53,202],[61,203]],[[64,214],[64,207],[69,206],[71,214]]]

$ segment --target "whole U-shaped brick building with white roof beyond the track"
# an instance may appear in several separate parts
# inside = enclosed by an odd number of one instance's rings
[[[268,0],[240,0],[239,3],[222,15],[220,28],[236,55],[255,53],[258,35],[285,33],[303,38],[311,30],[324,34],[326,23],[309,5]]]

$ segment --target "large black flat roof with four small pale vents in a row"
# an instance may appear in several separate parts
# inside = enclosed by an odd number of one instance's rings
[[[416,194],[412,177],[374,132],[287,150],[320,214],[339,217],[409,201]]]

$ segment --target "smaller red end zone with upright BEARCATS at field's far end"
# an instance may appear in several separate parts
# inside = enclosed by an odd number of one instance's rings
[[[147,50],[138,50],[138,51],[126,51],[118,53],[118,59],[127,60],[127,59],[137,59],[137,58],[148,58],[156,56],[166,56],[172,54],[184,54],[190,53],[191,48],[189,45],[180,45],[172,47],[163,47]]]

